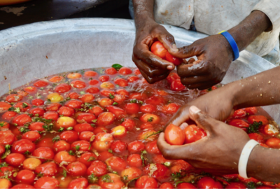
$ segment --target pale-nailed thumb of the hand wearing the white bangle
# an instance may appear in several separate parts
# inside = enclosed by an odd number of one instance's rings
[[[217,120],[204,111],[201,111],[196,106],[190,106],[190,118],[197,123],[198,127],[204,129],[207,135],[213,132],[215,125],[217,125]]]

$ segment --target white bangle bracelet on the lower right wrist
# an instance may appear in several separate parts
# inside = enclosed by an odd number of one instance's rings
[[[250,156],[251,152],[253,151],[253,148],[255,148],[255,146],[257,146],[258,144],[259,143],[257,141],[250,140],[245,144],[245,146],[241,152],[239,162],[238,162],[238,172],[239,172],[239,175],[245,179],[248,179],[247,164],[248,164],[249,156]]]

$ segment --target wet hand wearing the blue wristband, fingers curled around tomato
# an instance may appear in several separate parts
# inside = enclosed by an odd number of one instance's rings
[[[169,49],[170,54],[182,59],[197,56],[177,66],[181,83],[189,89],[207,89],[220,83],[233,60],[233,51],[227,39],[221,34],[195,41],[177,50]]]

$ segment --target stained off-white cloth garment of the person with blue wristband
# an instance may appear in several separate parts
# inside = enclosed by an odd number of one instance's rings
[[[272,22],[272,31],[263,32],[246,50],[259,56],[269,54],[279,40],[280,0],[155,0],[155,21],[214,35],[231,29],[253,10],[260,10]],[[274,63],[275,64],[275,63]]]

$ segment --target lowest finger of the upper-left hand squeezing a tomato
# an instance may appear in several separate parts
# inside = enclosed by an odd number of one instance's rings
[[[146,75],[151,78],[161,76],[165,73],[169,73],[169,71],[165,69],[155,69],[143,62],[141,59],[136,59],[135,57],[132,57],[132,60],[134,61],[135,65],[139,68],[139,70],[144,71]]]

